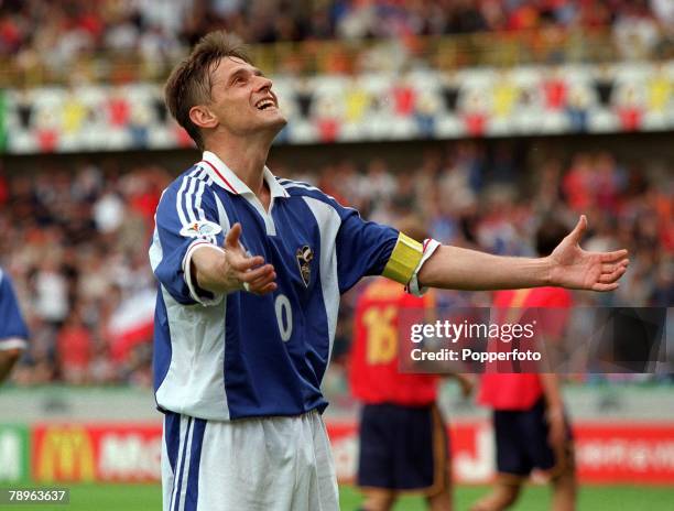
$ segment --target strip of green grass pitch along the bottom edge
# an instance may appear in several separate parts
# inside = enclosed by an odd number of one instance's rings
[[[32,487],[32,485],[25,485]],[[67,505],[2,505],[1,510],[22,511],[161,511],[160,487],[156,485],[72,485]],[[355,511],[360,502],[352,487],[340,488],[343,511]],[[455,510],[466,511],[471,502],[488,491],[487,487],[458,487]],[[550,493],[544,487],[529,487],[514,511],[548,509]],[[423,500],[405,497],[396,511],[422,511]],[[674,488],[638,486],[597,486],[580,489],[578,511],[671,511],[674,509]],[[242,510],[243,511],[243,510]]]

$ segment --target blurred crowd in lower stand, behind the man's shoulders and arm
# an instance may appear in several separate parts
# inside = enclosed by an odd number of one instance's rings
[[[671,163],[627,164],[609,152],[537,159],[531,148],[522,160],[507,142],[435,148],[405,172],[391,172],[380,157],[361,168],[350,160],[294,173],[279,160],[272,168],[317,184],[366,218],[394,222],[417,211],[436,239],[501,254],[531,256],[532,232],[545,215],[573,225],[586,213],[585,246],[627,247],[632,263],[617,292],[585,294],[577,303],[674,305]],[[116,160],[105,160],[0,176],[0,264],[14,280],[32,334],[14,382],[150,385],[155,284],[148,247],[170,173],[121,172]],[[348,350],[357,293],[344,301],[337,358]],[[489,304],[485,293],[452,296]]]

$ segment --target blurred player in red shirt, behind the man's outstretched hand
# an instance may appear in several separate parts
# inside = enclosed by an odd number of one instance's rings
[[[536,232],[536,249],[550,254],[566,235],[557,221],[544,222]],[[517,314],[529,307],[555,308],[546,314],[548,338],[563,335],[572,295],[559,287],[499,291],[493,307]],[[554,373],[486,372],[478,402],[493,410],[498,476],[492,492],[471,511],[497,511],[515,502],[530,476],[550,481],[552,509],[572,511],[576,501],[576,475],[570,427],[564,413],[557,376]]]

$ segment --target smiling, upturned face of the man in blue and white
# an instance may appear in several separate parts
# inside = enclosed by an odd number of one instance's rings
[[[260,69],[236,57],[222,58],[213,72],[211,104],[219,128],[235,135],[262,131],[272,137],[285,126],[272,80]]]

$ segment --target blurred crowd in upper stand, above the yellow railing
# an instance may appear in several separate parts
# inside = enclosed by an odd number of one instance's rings
[[[34,30],[40,26],[40,30]],[[226,29],[248,43],[388,40],[424,35],[535,31],[554,44],[555,29],[607,29],[620,57],[643,57],[674,45],[672,0],[3,0],[0,58],[19,69],[56,73],[105,54],[156,70],[175,62],[207,31]],[[552,31],[547,31],[551,29]],[[547,31],[547,32],[546,32]],[[534,43],[536,44],[536,43]],[[400,51],[400,48],[398,50]],[[556,58],[559,57],[557,48]],[[327,58],[324,55],[323,58]],[[562,56],[564,58],[564,56]],[[329,59],[329,58],[328,58]],[[329,66],[328,66],[329,67]],[[98,69],[100,72],[100,69]],[[76,74],[79,78],[79,74]],[[126,79],[130,76],[124,75]]]

